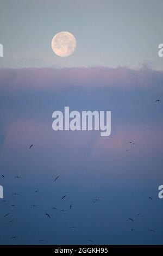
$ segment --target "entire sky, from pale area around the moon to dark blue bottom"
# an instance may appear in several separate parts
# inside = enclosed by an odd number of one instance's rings
[[[0,5],[0,245],[162,245],[162,1]],[[111,135],[54,131],[65,106],[111,111]]]

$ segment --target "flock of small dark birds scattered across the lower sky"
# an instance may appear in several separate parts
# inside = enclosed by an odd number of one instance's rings
[[[160,102],[160,100],[155,100],[155,102]],[[131,144],[131,145],[135,145],[135,143],[133,142],[133,141],[128,141],[127,143],[129,143],[129,144]],[[33,144],[31,144],[30,145],[30,147],[29,147],[29,149],[32,149],[32,147],[33,147]],[[128,149],[126,150],[126,151],[129,151]],[[54,182],[56,182],[58,179],[59,179],[59,175],[54,179]],[[1,175],[1,178],[2,179],[5,179],[5,175],[4,174],[2,174]],[[21,179],[21,176],[15,176],[14,177],[14,179]],[[39,192],[39,190],[36,190],[36,191],[34,191],[34,194],[35,193],[37,193],[37,192]],[[12,196],[18,196],[18,193],[12,193]],[[65,199],[67,197],[67,195],[64,195],[64,196],[62,196],[61,197],[61,200],[63,200],[63,199]],[[149,200],[153,200],[153,198],[152,197],[148,197],[148,199]],[[98,201],[100,201],[101,199],[93,199],[92,200],[92,203],[97,203]],[[2,201],[3,203],[6,203],[6,202],[8,202],[8,200],[3,200]],[[16,205],[15,204],[11,204],[11,206],[12,207],[15,207]],[[37,205],[31,205],[31,207],[37,207]],[[52,209],[57,209],[56,207],[53,207]],[[72,209],[72,204],[70,204],[70,209]],[[60,210],[60,212],[63,212],[63,211],[66,211],[65,209],[61,209]],[[8,217],[8,216],[10,216],[11,214],[10,214],[10,212],[8,212],[7,214],[5,214],[4,215],[4,218],[6,218],[6,217]],[[47,217],[47,218],[51,218],[51,215],[49,214],[49,213],[47,213],[47,212],[45,212],[45,216]],[[139,217],[139,216],[141,216],[141,214],[139,213],[139,214],[136,214],[135,215],[135,218],[137,218],[137,217]],[[128,220],[130,221],[130,222],[132,222],[132,223],[134,223],[134,218],[131,218],[131,217],[129,217],[128,218]],[[9,221],[7,224],[10,224],[10,223],[12,223],[13,222],[13,220],[11,220],[11,221]],[[72,228],[72,229],[75,229],[75,228],[77,228],[76,226],[72,226],[72,227],[70,227],[70,228]],[[131,228],[131,231],[133,231],[134,229],[133,228]],[[148,231],[149,232],[155,232],[155,230],[154,229],[148,229]],[[11,236],[11,237],[9,237],[9,239],[16,239],[17,238],[17,236]],[[45,242],[45,241],[47,241],[47,240],[40,240],[39,242]],[[94,243],[94,241],[93,240],[91,240],[91,239],[87,239],[87,241],[89,241],[89,242],[91,242],[91,243]]]

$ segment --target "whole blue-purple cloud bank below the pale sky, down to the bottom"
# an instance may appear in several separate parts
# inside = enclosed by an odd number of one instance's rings
[[[162,102],[154,102],[162,99],[162,72],[4,69],[0,77],[1,185],[8,200],[0,202],[1,244],[162,244]],[[64,106],[111,110],[111,136],[53,131],[52,113]]]

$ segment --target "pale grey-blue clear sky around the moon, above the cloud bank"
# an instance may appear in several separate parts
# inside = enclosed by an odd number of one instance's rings
[[[162,69],[162,0],[1,1],[2,68],[148,65]],[[71,32],[77,50],[54,57],[51,41]]]

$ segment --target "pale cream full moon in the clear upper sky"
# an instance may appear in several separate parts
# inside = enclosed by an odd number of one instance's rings
[[[52,50],[60,57],[70,56],[76,46],[76,38],[70,32],[59,32],[52,39]]]

